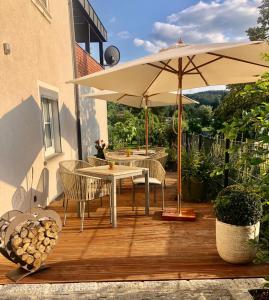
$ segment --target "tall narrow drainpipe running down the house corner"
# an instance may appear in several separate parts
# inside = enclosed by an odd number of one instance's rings
[[[74,78],[78,77],[77,65],[76,65],[76,40],[75,40],[75,27],[74,27],[74,15],[73,15],[73,0],[68,0],[69,6],[69,18],[70,18],[70,35],[71,35],[71,47],[72,47],[72,62],[73,62],[73,74]],[[79,87],[75,84],[74,87],[75,96],[75,113],[76,113],[76,127],[77,127],[77,144],[78,144],[78,159],[82,159],[82,142],[81,142],[81,123],[80,123],[80,102],[79,102]]]

